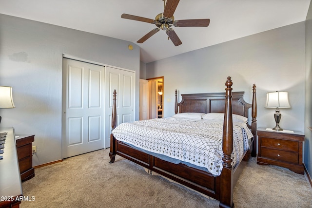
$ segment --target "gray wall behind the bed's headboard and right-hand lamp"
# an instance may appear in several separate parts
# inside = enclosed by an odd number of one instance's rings
[[[281,109],[280,126],[305,131],[305,22],[151,62],[146,71],[147,78],[164,76],[165,117],[174,114],[176,89],[180,94],[224,92],[231,76],[233,91],[245,91],[247,102],[256,84],[258,127],[275,126],[274,109],[264,108],[266,93],[287,91],[292,108]]]

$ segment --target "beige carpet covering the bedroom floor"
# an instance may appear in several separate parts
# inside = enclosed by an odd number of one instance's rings
[[[22,183],[21,208],[217,208],[216,200],[147,174],[142,167],[109,150],[67,158],[35,169]],[[307,176],[276,166],[256,165],[251,158],[234,188],[236,208],[312,208]]]

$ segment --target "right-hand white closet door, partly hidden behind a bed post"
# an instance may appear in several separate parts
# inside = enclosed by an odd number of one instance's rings
[[[135,119],[135,72],[105,67],[105,148],[110,147],[113,92],[116,90],[117,125]]]

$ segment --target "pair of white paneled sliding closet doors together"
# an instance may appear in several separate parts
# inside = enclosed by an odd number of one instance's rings
[[[134,71],[63,58],[62,158],[110,147],[114,90],[117,125],[134,121]]]

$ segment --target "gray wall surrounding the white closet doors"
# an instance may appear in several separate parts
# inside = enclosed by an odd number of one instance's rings
[[[62,55],[136,71],[139,47],[55,25],[0,14],[0,85],[13,87],[15,109],[1,109],[0,127],[36,134],[34,166],[61,159]]]

